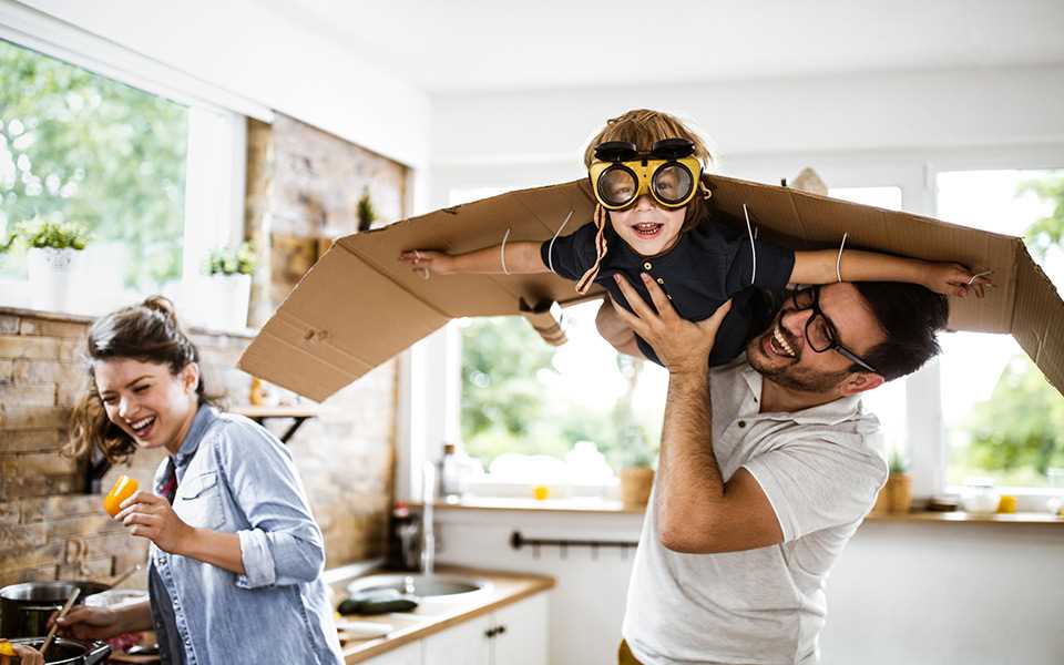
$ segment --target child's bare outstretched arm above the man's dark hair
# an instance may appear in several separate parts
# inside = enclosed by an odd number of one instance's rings
[[[795,252],[791,284],[830,284],[837,282],[836,249]],[[847,249],[839,265],[843,282],[909,282],[923,285],[937,294],[964,297],[974,290],[980,298],[993,282],[954,263],[931,263],[876,252]],[[974,278],[974,279],[973,279]]]

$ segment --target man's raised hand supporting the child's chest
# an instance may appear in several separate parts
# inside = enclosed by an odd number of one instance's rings
[[[614,275],[621,293],[632,307],[630,313],[614,304],[617,316],[653,347],[671,374],[705,371],[720,321],[732,310],[732,300],[718,307],[709,318],[695,324],[676,314],[662,287],[649,275],[642,273],[641,276],[657,314],[624,277]]]

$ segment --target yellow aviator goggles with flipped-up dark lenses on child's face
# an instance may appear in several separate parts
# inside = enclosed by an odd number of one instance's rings
[[[647,193],[662,207],[684,207],[702,177],[702,163],[694,155],[695,144],[686,139],[664,139],[646,152],[634,143],[607,141],[595,146],[587,170],[591,188],[607,211],[623,211]]]

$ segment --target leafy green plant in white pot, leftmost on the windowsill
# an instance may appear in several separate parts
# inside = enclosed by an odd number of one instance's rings
[[[75,256],[89,243],[84,226],[59,218],[35,217],[16,226],[0,249],[24,245],[32,305],[37,309],[65,311],[70,308]]]

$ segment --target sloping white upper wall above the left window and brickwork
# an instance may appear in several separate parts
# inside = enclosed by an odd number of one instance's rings
[[[428,163],[428,95],[253,0],[22,4],[408,166]]]

